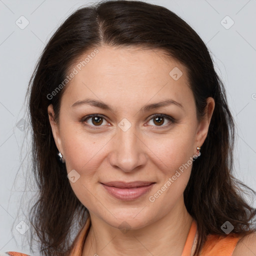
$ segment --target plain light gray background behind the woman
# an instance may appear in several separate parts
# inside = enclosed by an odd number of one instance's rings
[[[0,0],[0,251],[29,252],[21,247],[24,235],[15,229],[25,219],[22,213],[17,215],[17,209],[29,168],[24,163],[20,168],[21,144],[28,128],[25,125],[22,131],[19,122],[28,80],[50,35],[72,11],[89,2],[94,1]],[[236,122],[235,176],[256,189],[256,0],[147,2],[176,12],[212,52]],[[15,23],[21,23],[21,15],[29,21],[24,29]]]

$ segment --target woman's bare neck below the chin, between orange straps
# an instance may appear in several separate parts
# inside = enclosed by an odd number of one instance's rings
[[[181,255],[192,223],[183,200],[164,217],[147,226],[121,232],[93,213],[82,256]]]

